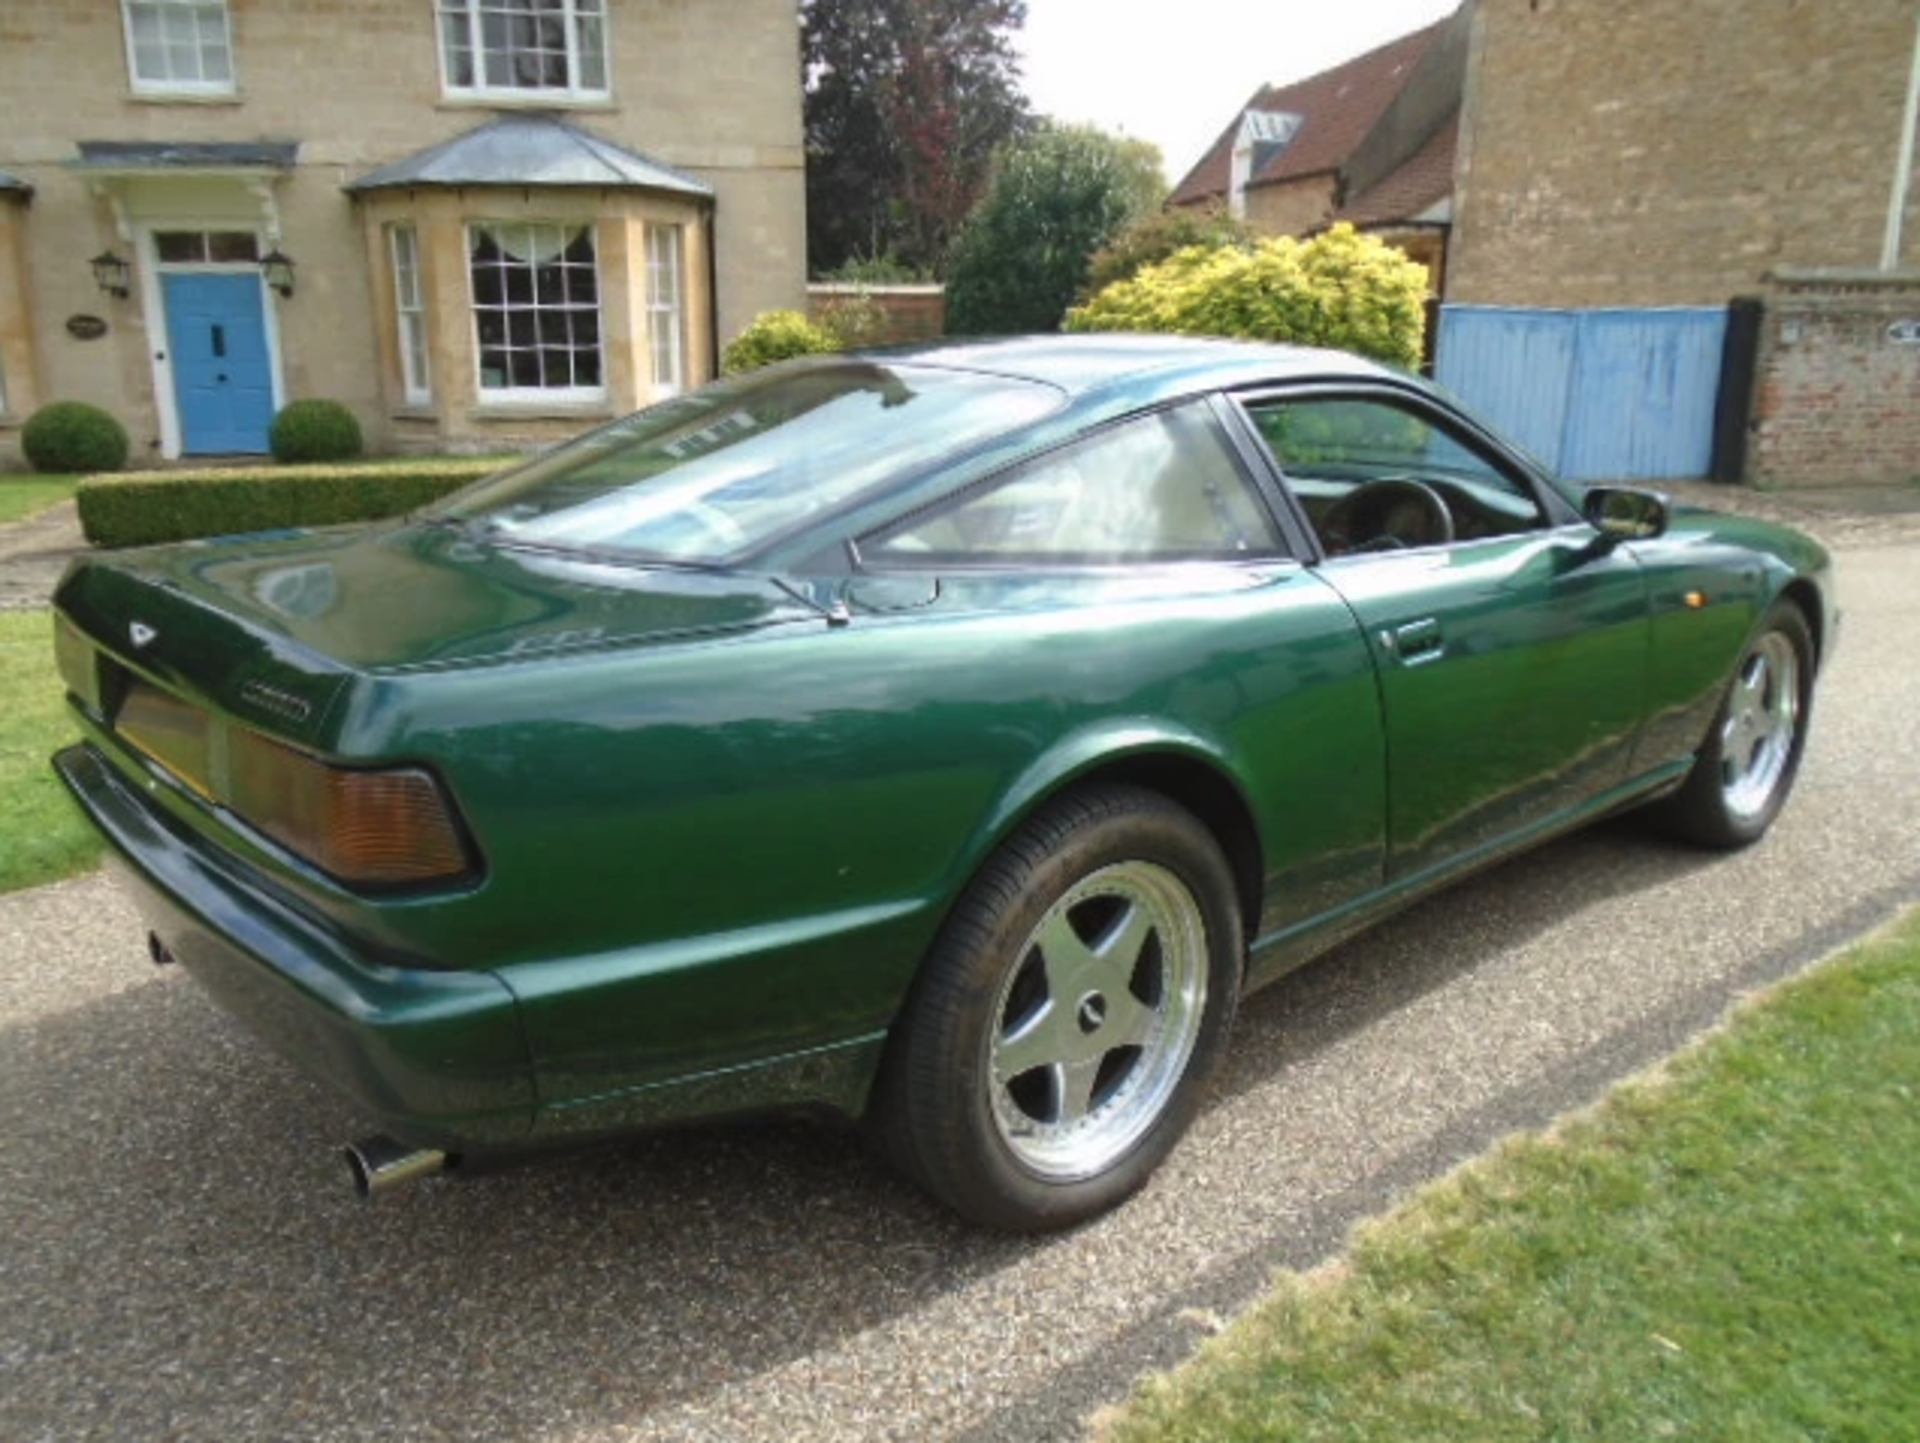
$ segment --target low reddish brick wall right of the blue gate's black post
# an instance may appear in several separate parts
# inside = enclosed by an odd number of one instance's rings
[[[1751,430],[1755,485],[1920,482],[1920,272],[1774,274]]]

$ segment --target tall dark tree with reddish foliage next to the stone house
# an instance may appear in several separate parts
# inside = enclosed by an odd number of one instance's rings
[[[814,274],[891,257],[939,274],[1027,125],[1023,0],[801,0]]]

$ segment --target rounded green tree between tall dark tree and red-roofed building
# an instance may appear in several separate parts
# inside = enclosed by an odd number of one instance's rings
[[[947,330],[1058,330],[1094,251],[1165,194],[1160,150],[1083,125],[1041,125],[1000,155],[954,246]]]

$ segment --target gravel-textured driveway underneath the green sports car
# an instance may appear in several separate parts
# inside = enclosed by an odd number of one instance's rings
[[[799,1124],[363,1209],[363,1119],[152,969],[109,881],[0,898],[0,1437],[1077,1437],[1275,1266],[1920,900],[1908,526],[1814,528],[1847,620],[1764,844],[1609,823],[1261,992],[1156,1182],[1062,1238]]]

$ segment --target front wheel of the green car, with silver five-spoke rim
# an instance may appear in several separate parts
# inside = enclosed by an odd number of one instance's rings
[[[1740,651],[1686,783],[1657,806],[1668,833],[1722,850],[1766,835],[1799,775],[1812,674],[1807,618],[1789,601],[1774,603]]]

